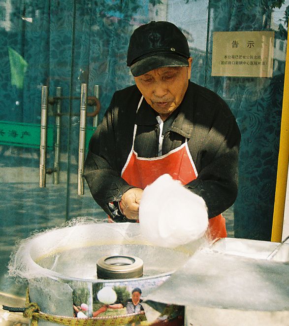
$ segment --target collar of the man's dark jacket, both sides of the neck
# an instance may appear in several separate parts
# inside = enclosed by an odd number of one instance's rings
[[[189,86],[180,104],[179,114],[173,121],[170,130],[183,137],[191,138],[193,132],[193,83],[189,81]],[[135,123],[137,125],[157,125],[156,112],[143,99],[136,114]]]

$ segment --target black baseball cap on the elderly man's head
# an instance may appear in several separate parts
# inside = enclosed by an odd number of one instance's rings
[[[130,37],[127,64],[135,77],[161,67],[188,67],[188,58],[187,38],[170,22],[152,21]]]

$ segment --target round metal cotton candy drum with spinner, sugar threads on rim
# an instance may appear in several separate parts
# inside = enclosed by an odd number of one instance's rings
[[[110,316],[117,310],[126,314],[125,301],[132,291],[140,289],[145,298],[189,259],[201,241],[168,249],[146,242],[139,224],[82,222],[22,241],[12,255],[9,272],[28,281],[30,301],[43,313],[74,317],[75,309],[85,306],[81,310],[85,318],[106,305],[99,316],[110,325],[120,325]],[[103,288],[115,292],[114,301],[100,299]],[[122,308],[108,308],[113,304]],[[39,320],[38,325],[56,324]]]

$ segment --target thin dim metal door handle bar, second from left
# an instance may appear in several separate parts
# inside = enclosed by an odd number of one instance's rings
[[[62,96],[62,87],[56,87],[56,96]],[[55,127],[56,127],[56,142],[54,144],[54,184],[59,184],[59,158],[60,158],[60,132],[61,132],[61,99],[58,100],[56,105],[56,117],[55,117]]]

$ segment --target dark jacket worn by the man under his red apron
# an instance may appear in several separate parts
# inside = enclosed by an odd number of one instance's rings
[[[136,114],[141,93],[135,85],[115,92],[101,124],[92,136],[85,162],[85,178],[91,193],[111,215],[109,202],[119,201],[132,188],[121,178],[132,145],[140,157],[158,156],[159,124],[156,112],[145,100]],[[209,218],[229,208],[237,196],[240,131],[236,120],[216,93],[189,82],[178,115],[165,133],[162,154],[188,146],[198,177],[186,185],[203,197]]]

